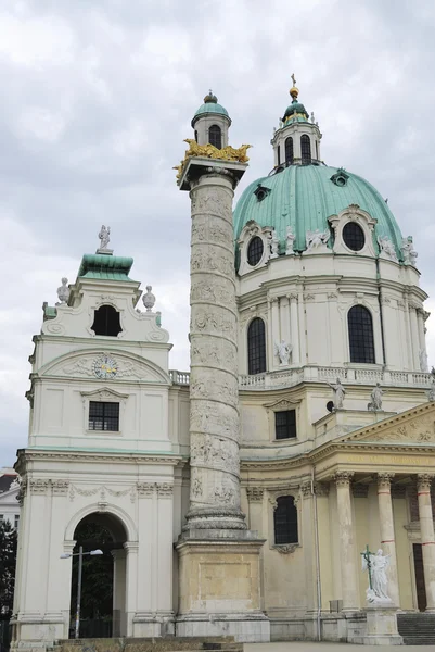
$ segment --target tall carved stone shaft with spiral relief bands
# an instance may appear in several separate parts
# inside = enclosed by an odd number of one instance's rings
[[[191,486],[187,529],[244,529],[232,199],[235,179],[204,167],[190,181]]]

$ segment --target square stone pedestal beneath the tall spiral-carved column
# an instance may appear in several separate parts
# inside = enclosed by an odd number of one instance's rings
[[[248,530],[189,530],[178,541],[177,636],[233,636],[269,642],[270,623],[260,609],[263,539]]]

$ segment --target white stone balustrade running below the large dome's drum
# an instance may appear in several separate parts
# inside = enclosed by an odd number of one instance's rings
[[[189,385],[189,372],[170,369],[169,376],[174,385]],[[373,369],[305,366],[295,369],[277,369],[264,374],[241,375],[239,376],[239,388],[242,390],[276,389],[278,387],[293,387],[299,383],[331,383],[336,378],[350,385],[375,385],[381,383],[381,385],[428,388],[433,375],[422,372],[387,372],[381,366]]]

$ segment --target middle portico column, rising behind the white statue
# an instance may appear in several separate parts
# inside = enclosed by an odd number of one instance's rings
[[[384,554],[389,554],[388,597],[395,606],[400,606],[399,582],[397,578],[396,541],[394,535],[392,478],[394,473],[378,474],[378,506],[381,528],[381,548]]]

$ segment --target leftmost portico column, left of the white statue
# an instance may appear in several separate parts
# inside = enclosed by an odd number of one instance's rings
[[[353,472],[340,471],[335,474],[338,511],[340,562],[342,570],[343,611],[359,609],[356,542],[351,516],[350,481]]]

